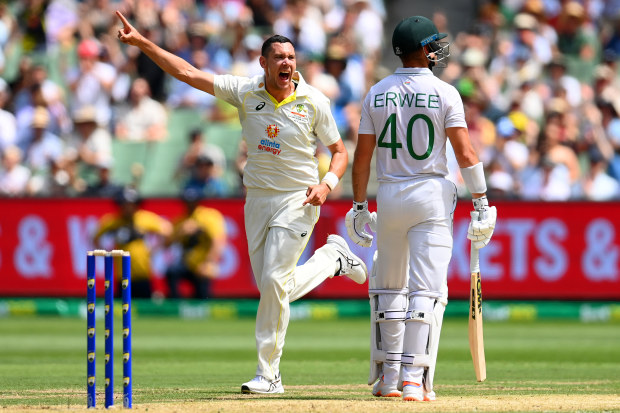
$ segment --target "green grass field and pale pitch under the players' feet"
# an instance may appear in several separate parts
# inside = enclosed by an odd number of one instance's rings
[[[85,324],[79,318],[0,318],[0,407],[83,408]],[[115,387],[117,404],[122,405],[120,318],[116,327]],[[101,406],[102,320],[97,328],[97,402]],[[254,376],[254,320],[135,317],[134,407],[221,412],[286,409],[289,413],[358,411],[355,406],[370,411],[378,405],[382,411],[411,411],[411,403],[371,396],[366,385],[368,331],[365,318],[291,321],[281,362],[286,393],[257,397],[239,394],[240,384]],[[476,383],[467,319],[445,320],[435,380],[438,401],[418,406],[499,411],[503,409],[497,403],[512,400],[510,411],[620,411],[619,324],[486,322],[484,333],[488,378]],[[547,398],[552,400],[548,404],[535,402]],[[454,403],[442,405],[442,399]],[[488,402],[489,408],[477,405],[480,400]],[[573,402],[563,404],[563,400]],[[591,404],[592,400],[602,402]]]

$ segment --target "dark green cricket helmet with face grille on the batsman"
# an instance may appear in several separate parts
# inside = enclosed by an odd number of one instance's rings
[[[402,56],[428,46],[426,57],[436,64],[450,56],[450,43],[440,42],[448,36],[439,33],[435,24],[424,16],[411,16],[403,19],[392,35],[394,54]]]

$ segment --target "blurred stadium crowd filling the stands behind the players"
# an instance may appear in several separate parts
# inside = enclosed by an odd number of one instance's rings
[[[429,17],[449,33],[450,62],[437,73],[463,97],[490,196],[618,199],[620,1],[478,3],[465,32],[450,33],[441,11]],[[170,113],[179,108],[208,122],[234,122],[225,104],[118,42],[115,10],[214,73],[261,74],[264,36],[289,37],[305,79],[331,99],[351,151],[366,91],[394,69],[382,64],[392,53],[384,25],[399,18],[387,15],[383,0],[2,1],[0,196],[110,196],[117,187],[110,181],[114,140],[165,141]],[[243,156],[241,147],[231,160],[241,173]],[[218,148],[188,144],[178,160],[182,186],[239,194],[195,175],[204,171],[217,181],[208,168],[221,168],[222,157]],[[458,167],[451,170],[467,197]]]

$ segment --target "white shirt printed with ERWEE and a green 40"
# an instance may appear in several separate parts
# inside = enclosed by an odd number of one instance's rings
[[[399,68],[364,99],[360,134],[377,137],[379,182],[446,176],[446,128],[467,127],[454,86],[430,69]]]

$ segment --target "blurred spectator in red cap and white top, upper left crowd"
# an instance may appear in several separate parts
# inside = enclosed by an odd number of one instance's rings
[[[111,90],[116,79],[114,66],[99,61],[100,44],[95,39],[85,39],[77,48],[78,67],[67,74],[67,83],[72,91],[72,110],[94,106],[97,123],[107,127],[112,118]]]

